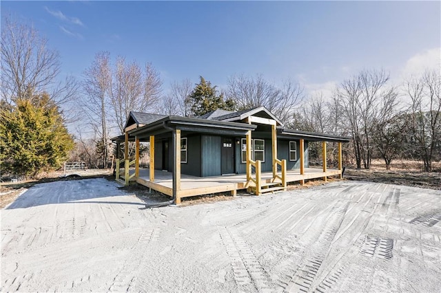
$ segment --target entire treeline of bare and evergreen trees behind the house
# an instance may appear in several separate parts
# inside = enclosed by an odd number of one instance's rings
[[[130,111],[198,117],[218,108],[258,106],[294,129],[349,136],[345,159],[358,168],[369,169],[373,158],[382,158],[389,169],[392,160],[405,158],[431,171],[432,162],[440,160],[439,71],[397,87],[383,70],[363,70],[329,96],[307,96],[296,80],[276,84],[261,74],[231,76],[221,89],[203,76],[196,84],[185,79],[164,85],[151,63],[109,52],[97,53],[78,78],[60,82],[60,68],[59,54],[37,30],[6,19],[1,31],[3,174],[36,175],[67,158],[108,167],[114,155],[110,138],[123,133]],[[76,125],[75,135],[68,133],[68,122]],[[320,147],[311,144],[309,155],[318,158]]]

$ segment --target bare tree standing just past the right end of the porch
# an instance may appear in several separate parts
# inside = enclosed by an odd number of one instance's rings
[[[358,168],[361,163],[365,169],[371,166],[371,122],[378,113],[378,101],[390,91],[386,89],[388,80],[389,74],[383,70],[364,70],[344,80],[337,89],[351,131]]]

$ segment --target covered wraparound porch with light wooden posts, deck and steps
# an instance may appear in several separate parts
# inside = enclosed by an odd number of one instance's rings
[[[155,191],[170,195],[176,204],[181,203],[181,198],[211,193],[230,192],[236,195],[238,190],[247,189],[256,195],[274,191],[286,191],[288,182],[300,182],[305,180],[322,178],[327,180],[329,176],[342,174],[342,140],[330,136],[317,135],[316,133],[291,132],[279,127],[280,123],[275,119],[247,116],[244,122],[213,121],[199,118],[183,118],[166,116],[152,123],[145,125],[132,125],[127,127],[125,135],[114,139],[117,145],[119,157],[120,144],[124,144],[124,156],[116,160],[116,181],[128,185],[130,182],[137,182]],[[266,131],[271,140],[271,162],[272,171],[267,172],[262,167],[261,160],[252,158],[252,132]],[[230,135],[244,137],[246,144],[243,145],[245,155],[246,173],[236,175],[187,175],[181,172],[181,154],[185,151],[185,163],[187,163],[187,141],[185,146],[181,144],[183,135],[192,133],[208,133],[210,135]],[[287,160],[278,159],[278,138],[296,138],[299,141],[299,169],[287,169]],[[155,140],[171,138],[170,160],[172,168],[168,171],[158,169],[155,162]],[[322,142],[322,168],[314,169],[305,166],[305,140],[316,140]],[[338,142],[338,169],[327,169],[327,142]],[[128,144],[134,142],[134,160],[129,160]],[[139,166],[139,144],[150,142],[150,167],[141,169]],[[231,146],[231,144],[230,144]],[[213,158],[207,153],[201,158]],[[188,165],[187,165],[188,166]],[[163,168],[162,168],[163,169]]]

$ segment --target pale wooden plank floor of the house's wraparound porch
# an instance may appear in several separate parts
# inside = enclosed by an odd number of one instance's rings
[[[301,180],[309,180],[314,178],[322,178],[329,176],[340,175],[338,169],[327,169],[323,172],[322,169],[305,168],[303,175],[300,175],[300,170],[287,171],[287,182],[298,182]],[[134,180],[139,184],[152,188],[166,195],[173,195],[173,181],[172,173],[167,171],[155,170],[154,182],[150,182],[150,170],[139,169],[139,177],[134,177]],[[271,182],[272,173],[262,173],[262,182]],[[232,192],[247,188],[247,175],[223,175],[210,177],[196,177],[192,175],[181,175],[181,188],[177,191],[179,197],[190,197],[195,195],[206,195],[210,193]]]

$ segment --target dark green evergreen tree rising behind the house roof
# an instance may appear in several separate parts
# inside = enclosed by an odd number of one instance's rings
[[[218,95],[216,86],[199,76],[201,81],[196,84],[193,91],[189,94],[186,101],[190,107],[191,116],[203,116],[205,113],[216,109],[233,110],[235,103],[233,100],[224,100],[223,94]]]

